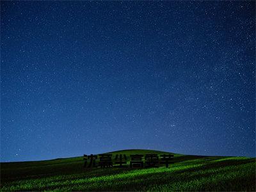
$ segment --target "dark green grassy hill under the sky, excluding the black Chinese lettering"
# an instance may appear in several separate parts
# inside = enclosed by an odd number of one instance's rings
[[[129,164],[130,154],[172,153],[108,154],[126,154]],[[83,157],[1,163],[1,191],[255,191],[255,158],[173,155],[169,168],[83,168]]]

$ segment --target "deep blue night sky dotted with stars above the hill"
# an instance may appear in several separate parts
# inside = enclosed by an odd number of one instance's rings
[[[1,161],[255,156],[255,1],[1,1]]]

